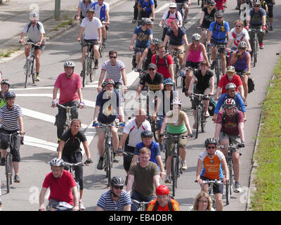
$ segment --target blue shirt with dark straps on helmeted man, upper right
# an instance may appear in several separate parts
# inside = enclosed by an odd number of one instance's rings
[[[230,31],[230,27],[226,21],[223,21],[223,23],[221,23],[220,25],[216,21],[213,21],[210,24],[209,31],[212,32],[211,34],[212,41],[223,44],[227,41],[226,32]]]

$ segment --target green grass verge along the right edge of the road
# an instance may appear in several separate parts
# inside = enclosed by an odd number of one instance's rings
[[[254,153],[258,163],[251,199],[254,211],[281,210],[281,58],[273,72],[275,79],[263,102],[259,146]]]

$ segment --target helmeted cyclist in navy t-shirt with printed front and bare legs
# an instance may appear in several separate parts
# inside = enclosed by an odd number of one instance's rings
[[[105,128],[100,128],[100,124],[120,124],[124,127],[124,113],[122,108],[121,97],[114,89],[115,82],[112,79],[105,79],[103,82],[103,91],[101,91],[96,98],[96,108],[93,115],[93,127],[97,129],[98,133],[98,153],[100,159],[98,160],[97,169],[103,169],[103,153],[105,151]],[[119,122],[120,118],[120,122]],[[117,148],[119,144],[119,136],[116,126],[111,127],[112,146],[114,153],[114,161],[119,162],[117,155]]]

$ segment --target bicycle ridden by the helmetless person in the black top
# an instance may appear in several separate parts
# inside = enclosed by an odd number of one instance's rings
[[[191,94],[190,95],[191,101],[196,101],[196,118],[195,118],[195,124],[196,124],[196,134],[195,139],[198,138],[198,131],[199,126],[201,125],[202,132],[205,131],[205,126],[207,123],[207,118],[205,117],[205,100],[210,100],[209,95],[207,94]]]

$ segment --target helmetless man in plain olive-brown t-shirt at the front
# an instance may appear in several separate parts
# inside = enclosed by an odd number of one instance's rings
[[[150,202],[155,199],[155,188],[159,186],[159,171],[154,162],[150,162],[149,148],[142,148],[139,162],[135,162],[129,169],[126,191],[131,193],[132,200]],[[139,205],[133,203],[131,211],[137,211]]]

